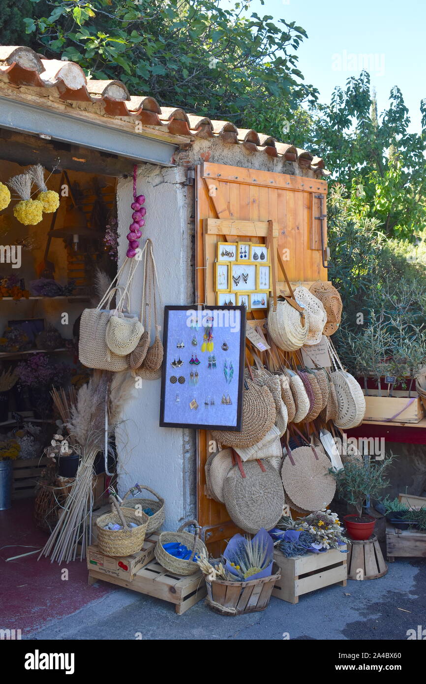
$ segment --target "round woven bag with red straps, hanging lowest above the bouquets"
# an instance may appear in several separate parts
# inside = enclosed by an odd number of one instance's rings
[[[265,472],[257,461],[246,462],[245,477],[234,466],[224,481],[224,503],[231,520],[252,534],[261,527],[267,530],[275,527],[284,507],[280,474],[267,461],[262,464]]]

